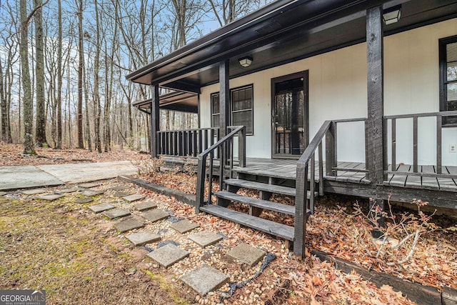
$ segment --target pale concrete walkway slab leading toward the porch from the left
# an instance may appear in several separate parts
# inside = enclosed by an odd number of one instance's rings
[[[0,166],[0,190],[79,184],[136,173],[137,169],[131,161]]]

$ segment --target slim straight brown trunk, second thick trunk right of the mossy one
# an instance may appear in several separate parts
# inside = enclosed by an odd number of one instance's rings
[[[84,149],[83,134],[83,66],[84,66],[84,44],[83,44],[83,0],[79,0],[78,5],[78,106],[77,106],[77,128],[78,128],[78,148]]]

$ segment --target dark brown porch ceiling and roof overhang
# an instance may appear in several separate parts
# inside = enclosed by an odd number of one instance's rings
[[[127,76],[140,84],[199,93],[219,81],[219,61],[231,78],[366,41],[366,9],[402,5],[401,19],[385,36],[455,18],[456,0],[279,0]],[[238,63],[251,56],[251,66]]]

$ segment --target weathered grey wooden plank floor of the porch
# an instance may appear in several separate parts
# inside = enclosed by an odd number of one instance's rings
[[[197,164],[195,158],[183,159],[179,157],[167,156],[164,158],[166,161],[174,161],[175,163],[186,163]],[[266,158],[246,158],[246,167],[233,166],[234,171],[238,171],[244,174],[253,174],[258,176],[271,176],[278,179],[296,179],[296,159],[266,159]],[[215,161],[214,164],[219,166],[219,161]],[[323,167],[325,171],[325,161],[323,161]],[[318,161],[315,164],[314,179],[318,180]],[[362,162],[338,162],[338,168],[346,169],[360,169],[365,170],[365,163]],[[388,166],[391,169],[391,166]],[[451,178],[433,178],[433,177],[421,177],[411,176],[408,173],[413,172],[413,166],[408,164],[399,164],[396,166],[398,174],[389,174],[388,179],[384,181],[385,186],[396,186],[405,187],[411,189],[431,189],[431,190],[442,190],[442,191],[456,191],[457,192],[457,179]],[[424,174],[436,173],[436,166],[433,165],[422,165],[418,166],[418,172]],[[443,174],[457,174],[457,166],[443,166]],[[309,179],[309,174],[308,174]],[[351,182],[358,184],[369,184],[370,181],[366,179],[364,172],[357,171],[338,171],[337,176],[325,176],[324,180],[328,181],[339,181],[339,182]]]

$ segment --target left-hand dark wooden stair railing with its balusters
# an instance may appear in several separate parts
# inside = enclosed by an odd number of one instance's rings
[[[206,158],[209,158],[209,189],[208,189],[208,201],[211,202],[212,184],[213,184],[213,165],[214,165],[214,153],[216,149],[219,149],[219,189],[224,188],[224,169],[228,161],[230,161],[230,171],[233,169],[233,138],[238,135],[238,161],[239,166],[246,166],[246,127],[245,126],[229,126],[228,129],[233,129],[224,138],[217,141],[215,144],[210,146],[208,149],[197,156],[199,160],[197,169],[197,186],[196,186],[196,202],[195,211],[200,212],[200,206],[204,204],[204,193],[205,193],[205,178],[206,178]],[[230,159],[230,160],[229,160]],[[230,172],[231,175],[231,172]]]

